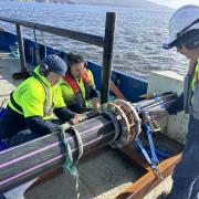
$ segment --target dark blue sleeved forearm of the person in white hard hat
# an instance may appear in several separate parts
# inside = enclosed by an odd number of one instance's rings
[[[184,109],[184,93],[179,97],[177,97],[176,102],[172,103],[168,108],[168,113],[170,115],[177,114],[178,112],[181,112]]]

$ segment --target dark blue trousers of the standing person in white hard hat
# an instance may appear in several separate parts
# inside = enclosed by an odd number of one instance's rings
[[[172,180],[168,199],[199,199],[199,121],[193,117],[189,119],[186,146]]]

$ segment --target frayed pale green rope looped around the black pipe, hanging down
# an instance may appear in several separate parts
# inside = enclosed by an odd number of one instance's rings
[[[76,136],[76,140],[78,144],[78,156],[75,160],[73,159],[72,149],[70,143],[66,139],[65,129],[63,129],[61,136],[66,149],[66,159],[65,159],[65,164],[63,165],[63,168],[65,172],[69,171],[70,175],[75,179],[76,198],[80,199],[80,175],[76,166],[78,164],[80,158],[83,155],[83,143],[78,132],[74,127],[71,127],[71,129],[73,129]]]

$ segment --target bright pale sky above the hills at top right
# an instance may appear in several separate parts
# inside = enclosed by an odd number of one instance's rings
[[[149,0],[151,2],[167,6],[174,9],[177,9],[184,4],[197,4],[199,6],[199,0]]]

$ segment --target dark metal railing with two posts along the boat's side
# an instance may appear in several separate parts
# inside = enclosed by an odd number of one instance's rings
[[[112,60],[113,60],[113,46],[114,46],[114,32],[115,32],[115,12],[106,13],[106,23],[105,23],[105,34],[104,36],[72,31],[62,28],[55,28],[51,25],[15,20],[10,18],[0,17],[1,21],[15,24],[17,36],[18,36],[18,46],[20,52],[20,62],[21,62],[21,73],[27,72],[25,66],[25,54],[24,54],[24,44],[22,35],[22,27],[40,30],[43,32],[52,33],[55,35],[61,35],[72,40],[94,44],[103,48],[103,67],[102,67],[102,82],[101,82],[101,103],[104,104],[107,102],[109,93],[109,83],[111,83],[111,72],[112,72]]]

